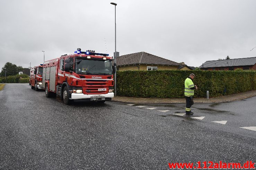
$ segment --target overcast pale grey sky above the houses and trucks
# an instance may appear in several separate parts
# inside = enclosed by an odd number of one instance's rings
[[[198,67],[256,57],[255,0],[0,0],[0,68],[24,68],[77,48],[148,52]],[[105,45],[106,41],[106,45]]]

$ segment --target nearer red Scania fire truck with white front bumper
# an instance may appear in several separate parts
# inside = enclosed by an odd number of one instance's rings
[[[45,96],[62,98],[65,104],[73,100],[87,100],[104,103],[114,97],[112,57],[80,48],[75,54],[45,61],[42,86]]]

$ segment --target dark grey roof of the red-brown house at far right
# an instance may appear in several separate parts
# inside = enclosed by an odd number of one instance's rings
[[[237,58],[228,60],[205,61],[199,68],[251,66],[256,63],[256,57]]]

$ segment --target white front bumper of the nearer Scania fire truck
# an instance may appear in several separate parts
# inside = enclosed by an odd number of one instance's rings
[[[83,94],[83,93],[72,93],[71,99],[89,99],[90,101],[99,101],[99,100],[111,100],[114,97],[114,93],[107,94]]]

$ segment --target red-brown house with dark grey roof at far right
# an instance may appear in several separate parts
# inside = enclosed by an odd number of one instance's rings
[[[205,61],[200,70],[256,70],[256,57]]]

